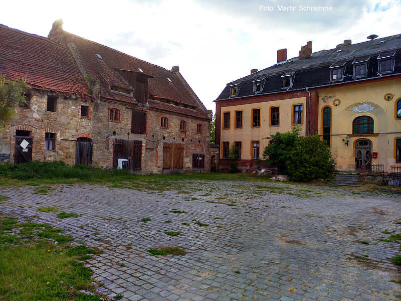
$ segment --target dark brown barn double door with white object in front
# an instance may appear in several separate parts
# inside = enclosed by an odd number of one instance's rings
[[[128,160],[128,171],[130,173],[141,173],[142,141],[114,139],[113,168],[117,168],[118,159]]]

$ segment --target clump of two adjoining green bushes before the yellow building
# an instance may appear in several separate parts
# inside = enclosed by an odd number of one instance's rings
[[[291,181],[310,182],[331,176],[331,152],[318,134],[300,136],[301,127],[293,126],[286,133],[275,133],[265,139],[272,143],[265,147],[263,158],[267,165],[276,165],[278,172]]]

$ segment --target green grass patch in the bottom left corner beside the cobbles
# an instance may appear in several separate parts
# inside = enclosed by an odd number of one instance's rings
[[[75,260],[99,251],[66,246],[72,238],[63,232],[47,224],[18,223],[17,218],[0,216],[1,300],[101,300],[79,291],[95,290],[90,284],[92,272]]]

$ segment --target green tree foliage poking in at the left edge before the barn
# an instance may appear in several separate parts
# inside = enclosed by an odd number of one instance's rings
[[[25,78],[6,80],[6,75],[0,75],[0,128],[13,119],[16,108],[24,105],[24,93],[30,88]]]

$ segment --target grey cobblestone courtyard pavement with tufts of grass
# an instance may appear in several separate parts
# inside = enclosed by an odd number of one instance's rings
[[[397,300],[401,293],[390,282],[400,276],[389,260],[399,244],[378,240],[389,236],[382,231],[400,233],[400,195],[263,181],[186,181],[163,192],[91,185],[56,185],[47,195],[34,190],[0,189],[10,197],[0,210],[68,229],[75,243],[102,249],[86,265],[109,297],[362,301]],[[59,219],[57,212],[37,211],[41,206],[82,216]],[[141,222],[146,217],[151,221]],[[187,254],[146,252],[165,245]]]

